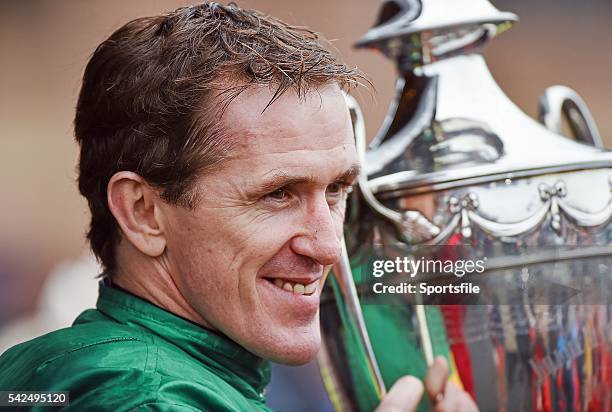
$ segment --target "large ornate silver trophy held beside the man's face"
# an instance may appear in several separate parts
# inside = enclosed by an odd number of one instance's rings
[[[347,97],[364,171],[319,356],[337,410],[373,410],[436,355],[481,411],[612,408],[612,153],[573,90],[546,89],[536,121],[495,83],[482,46],[516,19],[486,0],[392,0],[357,43],[399,78],[369,146]],[[487,259],[487,293],[373,296],[372,256],[432,253]]]

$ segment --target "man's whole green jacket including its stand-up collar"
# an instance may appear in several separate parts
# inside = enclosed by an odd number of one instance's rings
[[[0,356],[0,390],[69,391],[74,411],[270,411],[269,380],[267,361],[103,282],[96,309]]]

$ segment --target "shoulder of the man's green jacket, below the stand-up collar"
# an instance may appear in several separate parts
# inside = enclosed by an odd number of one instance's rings
[[[67,410],[75,411],[260,409],[155,334],[95,310],[83,317],[2,354],[0,390],[69,391]]]

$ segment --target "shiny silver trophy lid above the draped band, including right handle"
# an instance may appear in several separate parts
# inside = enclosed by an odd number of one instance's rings
[[[612,167],[612,153],[571,89],[556,86],[543,96],[547,128],[496,84],[474,46],[499,32],[491,27],[516,20],[514,14],[486,0],[393,0],[380,20],[357,46],[382,49],[396,60],[400,78],[364,162],[373,193],[394,197]],[[476,32],[478,41],[470,35]],[[561,134],[562,113],[575,139]]]

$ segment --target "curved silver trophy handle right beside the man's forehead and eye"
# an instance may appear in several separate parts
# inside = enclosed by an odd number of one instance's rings
[[[357,148],[357,157],[359,162],[364,165],[367,142],[363,114],[359,108],[357,101],[350,95],[344,95],[346,104],[351,114],[353,123],[353,132],[355,134],[355,146]],[[409,243],[424,242],[433,239],[440,233],[440,228],[431,223],[421,212],[416,210],[406,210],[398,212],[383,205],[376,199],[374,193],[368,185],[368,176],[366,173],[360,173],[357,179],[357,185],[363,195],[364,200],[379,215],[395,224],[402,234],[404,240]]]

